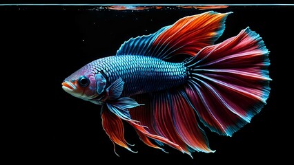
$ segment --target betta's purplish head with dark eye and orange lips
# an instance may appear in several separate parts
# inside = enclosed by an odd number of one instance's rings
[[[89,65],[81,67],[63,80],[62,89],[83,100],[90,100],[98,96],[95,74]]]

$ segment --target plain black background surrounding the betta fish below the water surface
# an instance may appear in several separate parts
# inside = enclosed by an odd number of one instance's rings
[[[43,164],[246,164],[285,162],[291,149],[292,6],[230,6],[226,30],[218,42],[249,26],[268,50],[271,94],[268,104],[233,137],[205,128],[215,153],[189,155],[165,146],[164,153],[143,144],[128,124],[125,137],[131,153],[112,142],[101,126],[100,107],[66,94],[63,79],[80,67],[112,56],[130,37],[150,34],[178,19],[206,12],[196,9],[99,10],[97,6],[0,6],[3,133],[10,162]],[[290,96],[287,96],[290,95]],[[11,102],[11,103],[10,103]],[[4,131],[3,131],[4,132]]]

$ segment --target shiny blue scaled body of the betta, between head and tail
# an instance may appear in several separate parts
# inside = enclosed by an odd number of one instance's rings
[[[101,72],[108,86],[117,78],[124,80],[121,96],[160,91],[186,83],[184,63],[170,63],[150,56],[109,56],[89,63],[92,74]]]

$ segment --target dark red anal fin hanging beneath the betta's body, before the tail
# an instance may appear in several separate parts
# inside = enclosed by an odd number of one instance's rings
[[[130,116],[133,120],[139,121],[140,126],[144,126],[147,131],[141,133],[183,153],[191,156],[190,153],[194,151],[214,152],[210,150],[206,135],[197,124],[195,112],[184,94],[184,91],[173,89],[137,96],[135,99],[144,102],[145,105],[130,109]],[[134,127],[138,129],[137,126]],[[155,139],[150,135],[164,139]],[[145,143],[148,145],[148,142],[150,141]]]

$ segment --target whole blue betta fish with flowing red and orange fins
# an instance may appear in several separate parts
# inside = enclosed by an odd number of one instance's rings
[[[68,76],[62,88],[100,105],[114,147],[133,151],[125,122],[150,147],[213,153],[204,127],[232,136],[266,105],[271,89],[269,51],[259,34],[247,27],[215,43],[231,13],[203,12],[130,38],[114,56]]]

